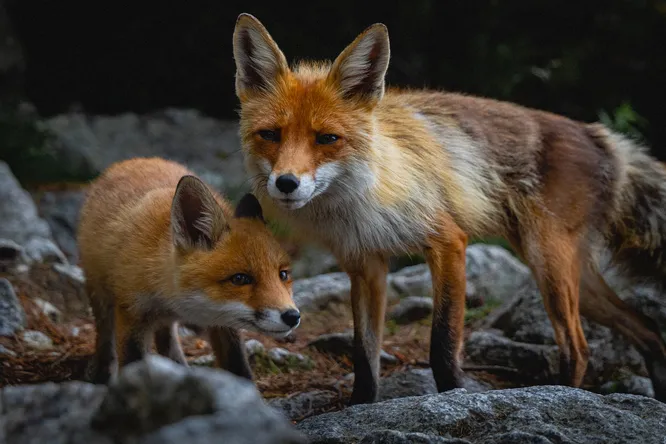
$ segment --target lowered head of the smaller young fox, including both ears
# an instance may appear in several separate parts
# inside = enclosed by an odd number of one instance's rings
[[[300,323],[288,254],[246,194],[230,217],[208,187],[183,176],[171,206],[175,310],[186,322],[280,336]]]

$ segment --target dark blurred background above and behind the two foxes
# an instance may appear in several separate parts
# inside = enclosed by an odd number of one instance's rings
[[[334,58],[383,22],[392,85],[601,120],[666,160],[666,0],[0,0],[0,160],[34,191],[161,155],[236,199],[247,189],[231,47],[240,12],[290,61]]]

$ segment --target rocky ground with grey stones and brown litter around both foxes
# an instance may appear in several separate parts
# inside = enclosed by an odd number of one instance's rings
[[[247,186],[235,125],[194,111],[69,114],[43,124],[67,168],[96,174],[115,160],[159,155],[187,163],[232,198]],[[539,292],[521,262],[486,244],[467,251],[466,389],[436,394],[430,275],[418,259],[396,260],[384,402],[346,408],[354,377],[349,281],[325,252],[287,238],[303,322],[281,341],[247,333],[258,390],[206,368],[210,346],[184,328],[189,370],[155,357],[109,388],[81,382],[95,335],[75,265],[84,192],[85,183],[26,191],[0,162],[0,443],[664,442],[666,407],[650,399],[641,356],[604,327],[585,321],[592,355],[585,390],[548,386],[557,378],[557,347]],[[652,289],[621,296],[666,323]]]

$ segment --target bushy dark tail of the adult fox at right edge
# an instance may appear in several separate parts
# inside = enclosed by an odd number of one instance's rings
[[[606,233],[612,265],[628,278],[666,285],[666,164],[631,139],[599,125],[594,131],[618,165]]]

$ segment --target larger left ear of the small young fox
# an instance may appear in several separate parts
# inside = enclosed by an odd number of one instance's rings
[[[213,193],[197,177],[183,176],[171,204],[171,232],[176,247],[210,250],[229,225]]]

